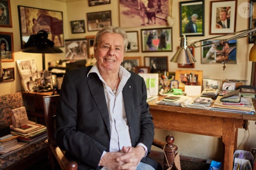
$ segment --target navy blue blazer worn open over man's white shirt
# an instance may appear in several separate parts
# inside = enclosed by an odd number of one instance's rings
[[[67,151],[79,169],[96,169],[102,152],[109,149],[110,124],[102,81],[92,66],[74,69],[64,75],[57,104],[56,141]],[[132,147],[142,142],[151,151],[154,124],[143,78],[134,72],[123,88],[124,106]],[[147,157],[142,160],[157,169]]]

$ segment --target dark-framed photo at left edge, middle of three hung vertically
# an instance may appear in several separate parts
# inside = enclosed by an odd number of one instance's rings
[[[2,62],[14,61],[13,33],[0,32],[0,44]]]

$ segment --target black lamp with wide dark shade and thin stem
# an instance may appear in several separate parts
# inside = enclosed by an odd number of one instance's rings
[[[48,32],[44,30],[40,30],[37,34],[31,35],[27,43],[24,44],[22,52],[41,53],[43,70],[45,70],[45,53],[63,53],[60,48],[54,46],[53,41],[48,39]]]

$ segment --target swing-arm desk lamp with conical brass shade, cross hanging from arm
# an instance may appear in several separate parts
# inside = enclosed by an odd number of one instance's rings
[[[256,32],[256,28],[245,29],[245,30],[237,31],[235,33],[223,34],[220,36],[215,36],[215,37],[195,41],[195,42],[191,43],[190,46],[187,46],[186,36],[183,36],[183,37],[181,37],[180,49],[174,54],[173,58],[171,58],[170,61],[180,63],[180,64],[195,63],[196,60],[193,57],[193,55],[191,54],[191,52],[189,51],[188,47],[196,48],[196,47],[202,47],[202,46],[207,46],[207,45],[216,44],[216,43],[220,43],[220,44],[222,44],[222,46],[225,46],[225,43],[227,43],[230,40],[237,40],[239,38],[244,38],[244,37],[248,37],[248,36],[254,36],[254,46],[250,50],[249,61],[256,61],[256,36],[255,36],[256,33],[254,33],[254,32]],[[237,33],[240,33],[240,34],[237,34]],[[225,36],[230,36],[230,35],[235,35],[235,36],[232,36],[227,39],[217,40],[212,43],[201,44],[199,46],[195,45],[196,43],[201,42],[201,41],[215,40],[215,38],[220,38],[220,37],[225,37]],[[223,63],[224,63],[224,65],[223,65],[223,70],[224,70],[226,68],[225,60]]]

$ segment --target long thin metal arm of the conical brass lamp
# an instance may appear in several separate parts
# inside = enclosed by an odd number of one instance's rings
[[[188,47],[197,48],[197,47],[203,47],[203,46],[207,46],[207,45],[211,45],[211,44],[215,44],[215,43],[227,42],[229,40],[237,40],[239,38],[244,38],[244,37],[248,37],[248,36],[254,36],[254,35],[256,35],[256,33],[253,33],[255,31],[256,31],[256,28],[253,28],[253,29],[245,29],[245,30],[237,31],[235,33],[228,33],[228,34],[223,34],[223,35],[220,35],[220,36],[214,36],[214,37],[211,37],[211,38],[195,41],[195,42],[191,43],[190,46],[188,46]],[[241,34],[235,35],[237,33],[241,33]],[[253,33],[253,34],[250,34],[250,33]],[[229,36],[229,35],[235,35],[235,36],[232,36],[230,38],[223,39],[223,40],[218,40],[218,41],[212,42],[212,43],[206,43],[206,44],[203,44],[203,45],[201,44],[201,45],[198,45],[198,46],[195,45],[196,43],[199,43],[199,42],[202,42],[202,41],[213,40],[215,38],[225,37],[225,36]]]

